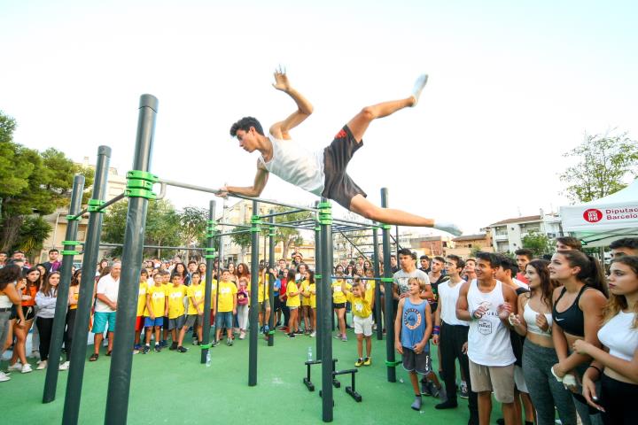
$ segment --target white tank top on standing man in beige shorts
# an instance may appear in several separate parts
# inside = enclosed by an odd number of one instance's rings
[[[486,306],[486,313],[480,319],[470,321],[468,333],[468,357],[474,363],[484,366],[509,366],[516,361],[510,343],[510,329],[502,324],[497,309],[505,302],[502,283],[496,281],[494,290],[481,292],[476,279],[468,290],[468,307],[473,312],[479,305]]]

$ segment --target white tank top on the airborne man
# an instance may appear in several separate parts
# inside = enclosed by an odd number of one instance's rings
[[[292,140],[277,139],[274,135],[268,135],[268,139],[273,146],[273,158],[265,162],[259,157],[268,172],[321,196],[325,184],[323,149],[309,152]]]

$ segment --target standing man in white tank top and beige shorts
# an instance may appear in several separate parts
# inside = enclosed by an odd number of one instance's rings
[[[502,403],[506,425],[516,423],[514,407],[514,362],[510,343],[510,313],[517,313],[516,292],[494,279],[500,266],[492,252],[478,252],[477,279],[463,283],[456,304],[456,317],[470,321],[468,357],[471,389],[478,392],[480,425],[489,424],[492,391]]]

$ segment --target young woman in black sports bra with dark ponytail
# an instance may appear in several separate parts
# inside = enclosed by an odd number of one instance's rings
[[[572,391],[572,398],[584,425],[600,421],[597,411],[587,406],[580,382],[591,358],[572,352],[577,339],[600,347],[598,330],[607,302],[603,269],[582,251],[557,251],[549,263],[549,276],[562,286],[552,295],[552,340],[558,362],[552,367],[556,380]]]

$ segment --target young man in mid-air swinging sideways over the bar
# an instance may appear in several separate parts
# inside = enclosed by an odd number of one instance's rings
[[[366,106],[335,135],[332,143],[323,151],[310,153],[300,143],[292,142],[290,130],[299,126],[313,112],[306,97],[293,89],[285,71],[275,72],[273,87],[292,97],[297,111],[285,120],[276,122],[265,135],[258,120],[245,117],[230,128],[230,135],[237,137],[245,151],[260,151],[257,174],[252,186],[225,186],[218,196],[230,194],[259,197],[268,182],[268,174],[276,174],[286,182],[305,189],[317,196],[328,197],[347,210],[380,223],[401,226],[439,228],[455,236],[461,231],[453,224],[426,219],[401,210],[381,208],[366,199],[365,192],[346,173],[346,167],[354,152],[363,145],[363,134],[372,120],[384,118],[403,108],[416,106],[427,75],[421,75],[408,97],[400,100]]]

